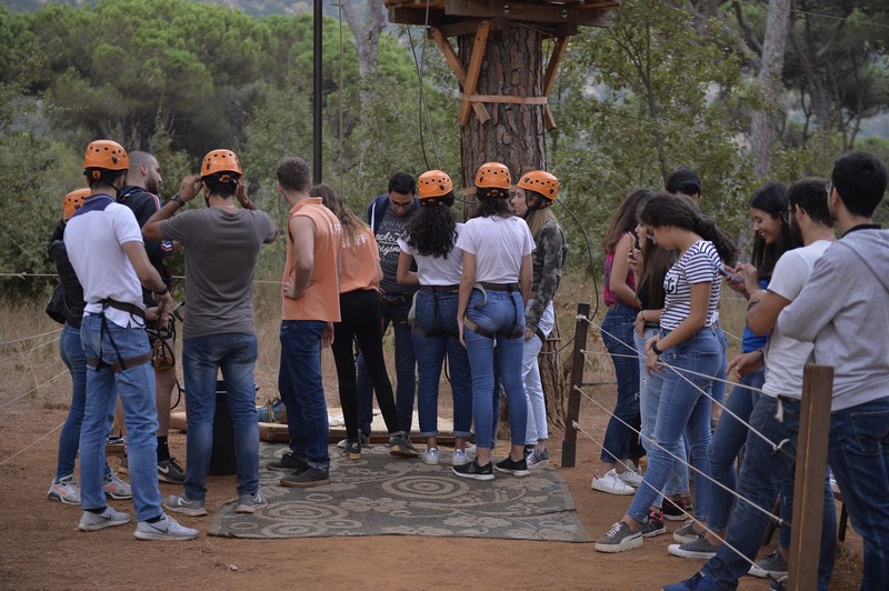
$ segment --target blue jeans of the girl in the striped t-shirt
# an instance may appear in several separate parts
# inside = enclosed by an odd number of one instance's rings
[[[677,462],[675,458],[686,457],[683,431],[691,447],[695,467],[705,474],[710,473],[710,463],[707,460],[707,447],[710,444],[710,399],[703,392],[719,369],[719,341],[712,329],[703,328],[663,351],[660,359],[665,367],[658,372],[661,385],[653,434],[657,445],[652,445],[648,454],[648,470],[627,511],[627,514],[639,522],[648,519],[649,508],[663,490]],[[650,380],[649,388],[655,387],[657,381]],[[707,519],[708,489],[709,482],[706,478],[696,478],[695,517],[700,520]]]

